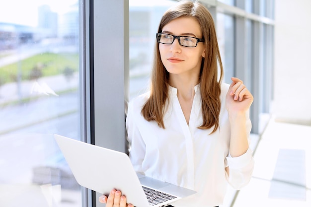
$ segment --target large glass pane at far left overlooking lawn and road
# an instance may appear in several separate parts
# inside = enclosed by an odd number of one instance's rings
[[[0,7],[0,206],[81,207],[53,134],[80,139],[78,0]]]

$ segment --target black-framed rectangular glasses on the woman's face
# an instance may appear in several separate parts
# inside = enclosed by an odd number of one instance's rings
[[[204,38],[196,38],[196,37],[189,37],[189,36],[175,36],[171,34],[165,33],[156,33],[156,41],[158,43],[171,45],[173,44],[175,39],[178,39],[178,43],[184,47],[191,47],[194,48],[198,45],[198,42],[204,42]]]

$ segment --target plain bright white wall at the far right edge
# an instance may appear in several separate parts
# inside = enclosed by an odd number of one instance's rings
[[[311,0],[275,0],[276,120],[311,125]]]

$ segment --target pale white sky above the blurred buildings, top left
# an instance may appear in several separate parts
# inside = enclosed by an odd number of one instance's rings
[[[0,6],[0,22],[37,26],[38,6],[47,4],[57,13],[68,11],[78,0],[7,0]]]

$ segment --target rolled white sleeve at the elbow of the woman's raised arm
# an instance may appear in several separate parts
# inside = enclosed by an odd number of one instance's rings
[[[249,135],[251,130],[251,121],[249,119],[249,113],[247,113],[246,116],[247,116],[246,129]],[[225,167],[229,167],[229,175],[226,172],[226,177],[229,184],[235,190],[240,190],[249,183],[253,173],[254,158],[252,155],[252,150],[248,148],[244,154],[238,157],[232,157],[229,153],[225,160]]]

